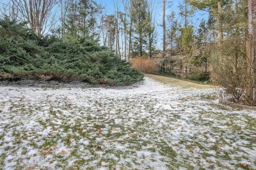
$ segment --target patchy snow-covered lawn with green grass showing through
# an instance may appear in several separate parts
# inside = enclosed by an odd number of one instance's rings
[[[0,86],[0,169],[256,169],[256,111],[150,78],[115,88]]]

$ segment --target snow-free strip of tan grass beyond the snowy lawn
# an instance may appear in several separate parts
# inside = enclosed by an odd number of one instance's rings
[[[184,80],[179,80],[176,78],[170,78],[165,76],[158,76],[153,74],[145,74],[145,76],[149,78],[153,78],[154,80],[157,80],[164,84],[170,84],[170,85],[172,84],[172,85],[181,86],[184,88],[200,88],[200,89],[214,88],[213,86],[210,86],[210,85],[196,84],[196,83],[187,82]]]

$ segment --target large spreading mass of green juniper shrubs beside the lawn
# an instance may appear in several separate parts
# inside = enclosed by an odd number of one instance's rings
[[[126,85],[143,79],[97,41],[79,36],[35,35],[25,23],[0,20],[0,79],[80,80]]]

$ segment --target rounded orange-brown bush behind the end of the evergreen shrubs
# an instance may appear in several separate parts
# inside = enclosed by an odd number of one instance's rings
[[[140,57],[136,57],[131,60],[132,68],[138,68],[140,72],[144,73],[153,73],[157,70],[156,64],[150,59],[142,59]]]

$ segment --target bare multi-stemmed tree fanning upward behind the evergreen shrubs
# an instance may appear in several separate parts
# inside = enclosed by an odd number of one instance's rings
[[[22,18],[29,22],[37,35],[44,34],[54,21],[54,6],[60,0],[12,0]]]

